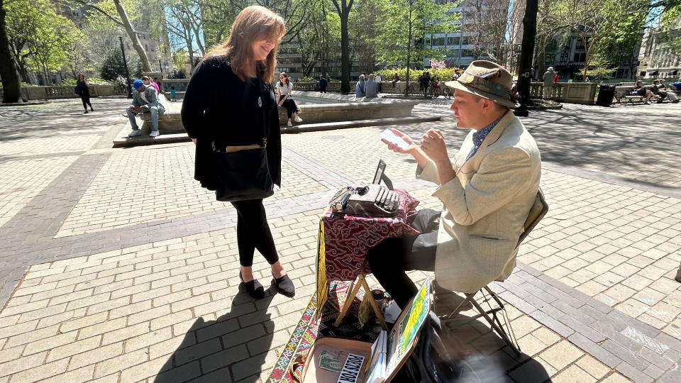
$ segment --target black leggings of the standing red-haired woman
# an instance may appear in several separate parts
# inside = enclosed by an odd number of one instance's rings
[[[253,252],[257,248],[265,256],[270,265],[279,260],[275,240],[272,238],[270,226],[267,225],[265,206],[262,199],[234,201],[236,208],[236,239],[239,246],[239,262],[243,267],[253,266]]]

